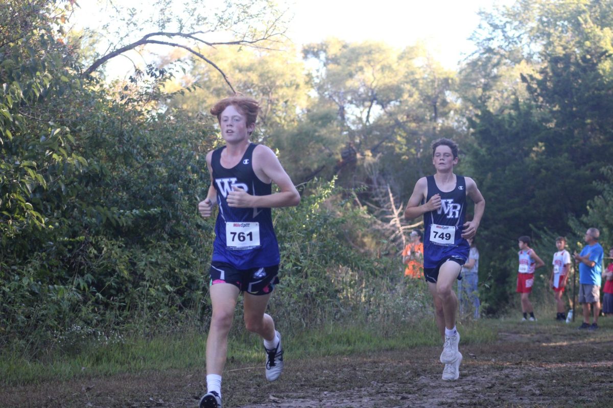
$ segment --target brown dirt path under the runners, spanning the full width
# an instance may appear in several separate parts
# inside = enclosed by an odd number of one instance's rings
[[[261,367],[232,364],[224,408],[613,407],[611,329],[503,330],[496,343],[460,345],[456,382],[440,379],[439,347],[287,360],[272,384]],[[143,373],[13,387],[0,391],[0,407],[194,408],[204,388],[201,370]]]

